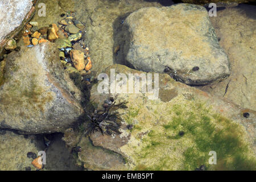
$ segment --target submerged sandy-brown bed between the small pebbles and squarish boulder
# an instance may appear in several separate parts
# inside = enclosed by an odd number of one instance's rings
[[[76,19],[85,22],[86,33],[83,39],[90,46],[92,71],[96,71],[97,75],[113,63],[123,64],[122,57],[118,57],[119,52],[118,56],[113,54],[114,48],[123,43],[123,35],[120,34],[122,19],[142,7],[162,6],[159,1],[138,0],[129,0],[129,2],[94,0],[82,1],[82,3],[84,6],[75,3]]]

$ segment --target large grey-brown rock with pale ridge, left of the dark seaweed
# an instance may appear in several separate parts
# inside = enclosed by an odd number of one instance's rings
[[[63,131],[83,113],[53,43],[11,52],[0,84],[0,127],[24,133]],[[75,95],[71,94],[75,91]]]

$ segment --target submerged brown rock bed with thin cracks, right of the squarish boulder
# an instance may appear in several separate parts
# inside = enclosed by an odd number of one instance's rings
[[[256,110],[255,12],[255,6],[240,5],[218,11],[216,17],[210,18],[220,45],[228,54],[232,73],[224,81],[200,87],[252,110]]]

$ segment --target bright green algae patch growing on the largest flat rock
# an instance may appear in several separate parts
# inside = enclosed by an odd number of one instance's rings
[[[136,117],[131,113],[130,120]],[[169,122],[152,127],[142,138],[143,147],[134,148],[133,169],[195,170],[204,164],[207,170],[255,170],[256,160],[240,125],[201,103],[172,105],[170,113]],[[138,123],[137,127],[143,126]],[[209,164],[209,151],[216,151],[216,165]]]

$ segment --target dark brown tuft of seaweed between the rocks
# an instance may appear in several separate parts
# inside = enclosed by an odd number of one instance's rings
[[[101,131],[102,135],[121,134],[118,129],[121,126],[122,118],[116,110],[118,108],[127,108],[125,104],[127,102],[121,102],[119,104],[112,102],[108,107],[105,107],[104,111],[98,111],[97,107],[94,108],[94,111],[87,115],[89,123],[85,130],[85,136],[95,131]]]

